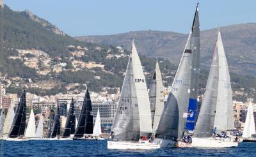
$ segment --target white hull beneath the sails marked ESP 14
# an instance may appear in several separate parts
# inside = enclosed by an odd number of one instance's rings
[[[158,144],[108,141],[108,149],[159,149]]]

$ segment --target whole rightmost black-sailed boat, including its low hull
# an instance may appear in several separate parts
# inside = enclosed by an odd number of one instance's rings
[[[93,114],[92,114],[92,101],[88,88],[84,95],[83,106],[79,115],[77,128],[74,134],[74,140],[96,140],[92,138],[93,133]],[[85,135],[85,136],[84,136]]]

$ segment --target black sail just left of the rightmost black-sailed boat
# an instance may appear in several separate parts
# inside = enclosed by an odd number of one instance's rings
[[[67,121],[62,134],[62,138],[70,137],[70,135],[74,134],[75,131],[76,131],[75,105],[74,105],[74,100],[72,98],[69,111],[68,111]]]

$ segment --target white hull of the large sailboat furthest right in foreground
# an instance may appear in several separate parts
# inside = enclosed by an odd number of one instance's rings
[[[178,147],[237,147],[238,142],[229,138],[192,138],[192,143],[178,142]]]

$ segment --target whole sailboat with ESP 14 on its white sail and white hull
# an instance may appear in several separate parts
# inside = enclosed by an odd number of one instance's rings
[[[151,133],[147,86],[133,40],[108,149],[157,149],[159,145],[147,140]]]

